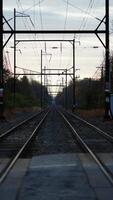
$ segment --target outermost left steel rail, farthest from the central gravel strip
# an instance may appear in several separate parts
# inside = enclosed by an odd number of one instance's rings
[[[26,124],[27,122],[29,122],[31,119],[35,118],[36,116],[40,115],[41,113],[43,113],[43,111],[40,111],[37,114],[32,115],[31,117],[28,117],[27,119],[25,119],[24,121],[18,123],[17,125],[13,126],[12,128],[10,128],[9,130],[5,131],[4,133],[2,133],[0,135],[0,140],[3,139],[4,137],[6,137],[7,135],[9,135],[12,131],[16,130],[17,128],[19,128],[20,126]]]

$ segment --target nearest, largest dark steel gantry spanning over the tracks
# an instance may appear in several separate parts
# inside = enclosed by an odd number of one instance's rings
[[[8,21],[5,19],[5,22],[9,26],[9,30],[3,30],[3,0],[0,1],[0,118],[3,117],[4,111],[4,83],[3,83],[3,48],[9,42],[12,35],[14,35],[14,43],[16,41],[16,35],[23,34],[95,34],[102,45],[105,48],[105,119],[109,119],[111,117],[111,109],[110,109],[110,57],[109,57],[109,0],[105,0],[105,16],[100,21],[99,25],[95,30],[16,30],[14,25],[14,29],[10,26]],[[14,11],[14,21],[15,21],[15,11]],[[105,23],[105,29],[100,30],[101,24]],[[15,23],[14,23],[15,24]],[[3,44],[3,35],[9,34],[9,38]],[[100,34],[105,35],[105,43],[102,41]],[[73,47],[74,48],[74,47]],[[15,49],[14,49],[15,51]],[[75,56],[75,55],[74,55]],[[74,69],[75,70],[75,69]],[[75,74],[75,73],[74,73]],[[75,77],[74,77],[75,80]],[[75,98],[75,93],[73,94],[73,98]],[[75,105],[74,105],[75,106]]]

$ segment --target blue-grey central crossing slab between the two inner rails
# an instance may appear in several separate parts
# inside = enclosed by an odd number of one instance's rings
[[[34,157],[19,200],[96,200],[77,154]]]

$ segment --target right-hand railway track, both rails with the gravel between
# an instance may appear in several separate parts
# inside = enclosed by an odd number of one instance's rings
[[[66,122],[68,127],[70,128],[74,140],[78,141],[78,144],[80,144],[81,148],[83,148],[84,151],[93,158],[93,160],[98,164],[101,171],[104,173],[104,175],[107,177],[107,179],[113,186],[113,171],[100,158],[99,153],[101,153],[101,151],[98,153],[96,152],[97,146],[95,148],[95,141],[94,141],[94,138],[95,138],[95,140],[99,140],[99,145],[101,146],[102,139],[100,140],[100,138],[104,138],[104,142],[106,141],[109,143],[109,145],[111,145],[112,152],[113,152],[113,138],[111,136],[109,136],[106,132],[99,129],[98,127],[90,124],[89,122],[83,120],[82,118],[80,118],[78,116],[73,115],[72,113],[66,112],[64,110],[58,111],[58,112],[59,112],[60,116],[64,119],[64,121]],[[78,121],[79,121],[79,124],[78,124]],[[81,124],[81,126],[80,126],[80,124]],[[87,134],[87,136],[84,137],[84,135],[85,135],[85,131],[83,128],[84,125],[88,126],[88,128],[93,129],[93,131],[94,131],[93,133],[88,132],[90,135],[90,137],[89,137],[90,139],[88,139],[88,134]],[[81,129],[81,127],[82,127],[82,129]],[[81,130],[82,130],[82,133],[81,133]],[[92,145],[92,141],[91,141],[92,137],[93,137],[93,145]],[[107,145],[107,147],[109,145]],[[110,151],[111,151],[111,149],[110,149]]]

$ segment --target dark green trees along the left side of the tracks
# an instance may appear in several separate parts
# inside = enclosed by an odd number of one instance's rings
[[[4,72],[5,82],[5,106],[11,108],[14,106],[14,79],[10,72]],[[37,81],[29,81],[26,76],[20,79],[16,78],[16,93],[15,93],[15,106],[16,107],[40,107],[40,91],[41,85]],[[43,86],[43,93],[45,99],[43,105],[47,105],[51,100],[48,95],[47,88]]]

